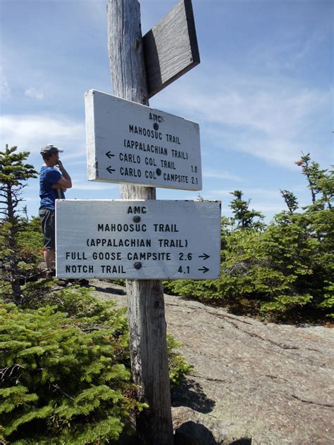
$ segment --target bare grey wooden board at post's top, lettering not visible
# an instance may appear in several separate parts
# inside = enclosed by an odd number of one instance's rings
[[[180,0],[144,35],[143,42],[151,97],[200,62],[192,1]]]

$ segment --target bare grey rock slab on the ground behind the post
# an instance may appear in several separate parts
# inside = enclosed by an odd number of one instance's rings
[[[126,306],[116,294],[124,288],[91,284],[99,298]],[[194,366],[172,394],[175,439],[333,444],[333,329],[264,323],[177,296],[165,304],[168,332]]]

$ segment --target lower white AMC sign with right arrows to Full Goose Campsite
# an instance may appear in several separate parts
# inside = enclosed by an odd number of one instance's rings
[[[56,201],[58,277],[214,279],[220,240],[220,201]]]

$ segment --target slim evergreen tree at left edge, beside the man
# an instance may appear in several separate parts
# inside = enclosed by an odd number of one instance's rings
[[[0,244],[4,262],[8,262],[11,298],[16,304],[21,301],[20,289],[20,258],[18,256],[17,236],[23,225],[18,206],[23,198],[22,190],[29,178],[36,177],[33,166],[24,163],[29,156],[28,151],[16,152],[6,145],[5,151],[0,151],[0,214],[3,215],[0,227]]]

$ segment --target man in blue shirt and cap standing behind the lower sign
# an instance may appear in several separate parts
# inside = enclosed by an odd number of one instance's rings
[[[59,153],[63,150],[49,144],[41,149],[44,164],[39,173],[39,196],[41,204],[39,206],[39,218],[41,220],[42,232],[44,234],[44,261],[47,265],[47,276],[54,276],[55,273],[55,201],[59,197],[65,199],[66,189],[72,187],[70,175],[63,167],[59,159]],[[58,167],[58,168],[56,168]],[[60,171],[59,171],[60,170]]]

